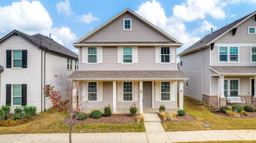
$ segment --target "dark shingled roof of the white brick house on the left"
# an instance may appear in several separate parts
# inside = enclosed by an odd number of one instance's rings
[[[0,39],[0,43],[2,41],[4,41],[5,39],[7,39],[8,37],[10,37],[11,35],[20,35],[21,37],[23,37],[28,42],[32,43],[33,45],[35,45],[38,48],[47,49],[51,52],[58,53],[58,54],[66,56],[66,57],[78,59],[78,55],[76,53],[74,53],[74,52],[70,51],[69,49],[67,49],[66,47],[60,45],[53,39],[51,39],[47,36],[41,35],[41,34],[36,34],[36,35],[30,36],[30,35],[20,32],[18,30],[14,30],[11,33],[4,36],[2,39]]]

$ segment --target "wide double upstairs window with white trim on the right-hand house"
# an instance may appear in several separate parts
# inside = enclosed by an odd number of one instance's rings
[[[219,47],[218,50],[219,63],[239,62],[238,47]]]

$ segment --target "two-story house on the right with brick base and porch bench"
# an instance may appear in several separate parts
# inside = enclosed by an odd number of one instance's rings
[[[220,108],[228,96],[256,107],[256,12],[218,29],[180,54],[184,95]]]

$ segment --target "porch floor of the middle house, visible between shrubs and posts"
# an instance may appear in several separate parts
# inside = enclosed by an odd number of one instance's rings
[[[85,112],[87,114],[90,114],[92,110],[100,110],[102,113],[104,113],[103,108],[87,108]],[[113,110],[113,109],[112,109]],[[171,112],[177,112],[179,108],[166,108],[165,112],[166,113],[171,113]],[[139,114],[139,109],[137,111],[137,114]],[[159,109],[158,108],[143,108],[143,114],[158,114]],[[116,109],[116,114],[130,114],[130,109],[129,108],[117,108]]]

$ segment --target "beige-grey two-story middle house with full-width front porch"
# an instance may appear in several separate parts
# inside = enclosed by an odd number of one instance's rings
[[[83,82],[87,108],[111,105],[113,113],[136,105],[143,108],[183,109],[177,105],[177,81],[183,90],[186,76],[177,70],[179,41],[126,9],[73,44],[79,49],[79,70],[69,78]]]

